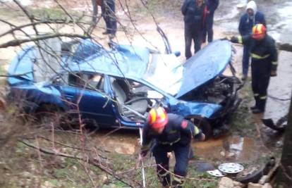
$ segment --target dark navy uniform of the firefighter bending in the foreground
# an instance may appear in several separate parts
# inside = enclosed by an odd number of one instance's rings
[[[190,147],[193,137],[200,139],[202,132],[189,120],[184,120],[181,115],[168,114],[169,122],[166,124],[162,134],[155,134],[150,125],[146,123],[143,128],[141,154],[145,156],[150,149],[152,140],[155,140],[153,156],[157,163],[157,175],[164,186],[171,184],[169,170],[169,158],[167,153],[174,151],[176,165],[174,174],[185,177],[188,167],[188,159],[192,151]],[[161,165],[161,166],[160,166]],[[173,184],[183,184],[181,177],[174,177]]]

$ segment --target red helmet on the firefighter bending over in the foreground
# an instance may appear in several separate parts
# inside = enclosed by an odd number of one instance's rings
[[[164,127],[169,122],[167,113],[162,107],[152,108],[149,111],[148,120],[150,126],[154,129]]]

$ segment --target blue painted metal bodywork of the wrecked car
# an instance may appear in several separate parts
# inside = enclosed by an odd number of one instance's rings
[[[83,41],[87,46],[90,46],[88,39]],[[97,44],[92,44],[95,46]],[[218,45],[229,51],[230,44],[229,42],[222,42],[217,41],[214,44],[209,44],[209,49],[214,50],[214,48],[218,48]],[[28,73],[32,70],[32,61],[30,58],[33,56],[33,49],[32,47],[24,49],[20,51],[18,57],[16,57],[13,62],[11,63],[11,67],[8,70],[9,75],[21,74],[21,73]],[[198,72],[195,72],[197,77],[200,79],[195,80],[196,83],[191,83],[188,81],[186,77],[183,78],[183,84],[190,84],[191,86],[199,87],[201,84],[208,82],[209,80],[214,79],[218,74],[220,74],[225,68],[226,65],[229,63],[231,58],[231,47],[230,53],[217,53],[217,56],[212,56],[211,60],[208,58],[204,58],[206,54],[209,54],[208,48],[203,49],[202,52],[197,53],[196,56],[190,58],[189,61],[186,62],[185,68],[197,68]],[[216,51],[216,50],[215,50]],[[8,83],[11,85],[11,89],[13,87],[16,90],[22,90],[27,92],[27,96],[33,96],[35,98],[33,101],[36,104],[42,103],[50,103],[55,104],[56,106],[61,106],[66,111],[68,111],[70,106],[64,102],[64,99],[68,100],[71,97],[71,101],[77,101],[78,96],[76,93],[83,92],[88,99],[86,99],[82,104],[80,104],[79,108],[85,118],[94,118],[99,120],[106,125],[114,125],[118,126],[118,122],[121,125],[127,127],[137,127],[143,126],[142,122],[130,122],[127,120],[123,120],[121,115],[118,113],[118,108],[113,101],[107,101],[107,96],[113,99],[114,92],[111,89],[111,85],[109,82],[109,76],[114,77],[127,77],[130,80],[135,80],[142,84],[147,85],[148,87],[156,90],[157,92],[164,95],[164,102],[169,106],[168,111],[170,113],[178,113],[183,115],[184,117],[190,117],[193,115],[199,115],[205,118],[216,118],[214,114],[220,111],[222,106],[217,104],[207,104],[201,102],[186,102],[181,101],[178,99],[183,94],[190,92],[191,89],[187,87],[182,87],[181,91],[178,96],[174,97],[165,92],[161,89],[154,87],[152,84],[142,80],[142,75],[145,73],[147,69],[147,63],[149,61],[150,51],[147,48],[141,47],[133,47],[127,45],[119,45],[116,46],[116,49],[112,51],[105,51],[102,49],[102,55],[100,54],[93,54],[92,56],[86,57],[82,61],[79,62],[69,62],[68,63],[68,70],[70,71],[84,71],[84,72],[91,72],[91,73],[104,73],[104,94],[99,94],[95,91],[81,91],[78,88],[66,86],[57,86],[54,84],[39,84],[39,83],[32,83],[33,74],[28,74],[23,76],[27,81],[24,82],[23,79],[20,79],[19,82],[13,80],[13,77],[8,78]],[[230,56],[229,56],[230,55]],[[25,56],[25,58],[24,58]],[[227,57],[225,57],[227,56]],[[221,58],[220,58],[221,57]],[[85,61],[86,60],[86,61]],[[114,61],[115,60],[115,61]],[[72,60],[71,60],[72,61]],[[195,61],[195,62],[194,62]],[[200,63],[197,61],[205,61],[204,63]],[[207,63],[206,63],[207,61]],[[215,61],[219,63],[215,63]],[[197,65],[194,65],[197,63]],[[117,68],[116,64],[118,64],[119,69]],[[207,70],[207,68],[214,68],[214,70],[207,72],[202,70]],[[195,69],[196,70],[196,69]],[[194,73],[194,71],[193,71]],[[186,72],[185,74],[189,75],[190,73]],[[193,79],[193,75],[191,76],[190,80]],[[194,80],[193,80],[194,81]],[[21,84],[20,84],[21,83]],[[16,86],[16,84],[18,84]],[[19,85],[20,84],[20,85]],[[76,92],[78,90],[78,92]],[[71,96],[70,96],[71,95]],[[74,96],[72,96],[74,95]],[[67,96],[67,97],[66,97]],[[98,98],[99,100],[96,103],[92,103],[95,101],[94,99]],[[107,104],[104,106],[104,104]],[[95,109],[97,106],[103,106],[102,110]],[[90,110],[91,109],[91,110]],[[92,112],[92,109],[95,109]],[[102,112],[102,113],[101,113]],[[116,121],[118,120],[118,122]]]

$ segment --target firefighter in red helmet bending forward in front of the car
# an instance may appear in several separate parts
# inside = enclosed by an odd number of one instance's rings
[[[148,120],[143,127],[142,147],[140,160],[147,155],[152,141],[155,140],[152,149],[157,163],[157,175],[164,187],[182,187],[183,177],[187,174],[188,160],[192,149],[192,139],[205,139],[202,133],[189,120],[183,119],[181,115],[166,113],[164,108],[152,108]],[[176,165],[174,166],[174,180],[171,183],[169,174],[169,152],[174,151]]]

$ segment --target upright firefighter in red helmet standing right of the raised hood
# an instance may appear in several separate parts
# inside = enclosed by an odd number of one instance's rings
[[[267,101],[269,78],[276,76],[278,65],[274,39],[267,35],[264,25],[257,24],[253,27],[252,35],[232,37],[231,42],[250,46],[252,87],[255,97],[255,106],[250,109],[253,113],[263,113]]]

